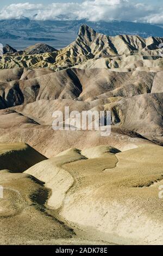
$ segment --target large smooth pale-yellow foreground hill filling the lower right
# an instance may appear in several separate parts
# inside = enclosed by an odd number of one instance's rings
[[[99,147],[95,150],[100,152]],[[90,159],[71,149],[26,173],[46,182],[52,189],[47,204],[74,231],[82,229],[78,233],[85,238],[161,244],[161,156],[162,147],[155,145]]]

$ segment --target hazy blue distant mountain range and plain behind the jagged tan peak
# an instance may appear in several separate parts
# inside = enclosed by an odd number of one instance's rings
[[[76,39],[79,27],[86,23],[98,33],[106,35],[140,35],[143,38],[150,36],[163,37],[163,27],[147,23],[135,23],[127,21],[91,22],[87,20],[73,21],[36,21],[22,17],[20,20],[0,20],[0,42],[10,44],[21,50],[27,45],[48,43],[61,48]]]

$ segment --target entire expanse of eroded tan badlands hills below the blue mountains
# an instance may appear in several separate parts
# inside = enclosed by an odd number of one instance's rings
[[[161,43],[82,25],[61,50],[4,47],[1,245],[163,243]],[[53,130],[65,106],[111,111],[111,134]]]

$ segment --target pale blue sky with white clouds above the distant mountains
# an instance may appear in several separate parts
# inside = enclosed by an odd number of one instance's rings
[[[162,0],[5,0],[0,19],[123,20],[163,24]]]

